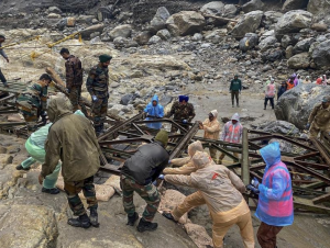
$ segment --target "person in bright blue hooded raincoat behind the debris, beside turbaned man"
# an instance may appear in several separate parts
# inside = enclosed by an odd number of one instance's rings
[[[158,102],[158,97],[157,94],[155,94],[152,98],[152,101],[145,106],[144,112],[147,114],[145,119],[146,121],[164,117],[164,108]],[[148,128],[161,129],[162,123],[146,123],[146,126]]]

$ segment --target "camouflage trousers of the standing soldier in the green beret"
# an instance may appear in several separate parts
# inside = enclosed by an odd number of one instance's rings
[[[92,117],[96,133],[100,133],[103,129],[103,124],[108,112],[108,97],[99,98],[92,103]]]

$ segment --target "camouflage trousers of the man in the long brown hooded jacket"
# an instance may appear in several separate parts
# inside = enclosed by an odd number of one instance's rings
[[[76,182],[64,181],[64,190],[67,194],[67,201],[72,211],[74,212],[74,215],[79,216],[86,214],[84,204],[78,195],[81,190],[87,200],[88,208],[98,207],[98,201],[96,199],[94,185],[94,176]]]

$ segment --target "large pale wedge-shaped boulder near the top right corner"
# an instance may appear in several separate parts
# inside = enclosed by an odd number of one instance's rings
[[[304,10],[293,10],[285,13],[275,25],[275,35],[278,41],[285,34],[297,33],[312,24],[312,14]]]

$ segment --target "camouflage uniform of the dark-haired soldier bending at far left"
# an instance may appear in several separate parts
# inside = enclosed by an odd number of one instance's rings
[[[16,104],[29,124],[38,121],[42,111],[47,108],[47,87],[38,83],[28,87],[26,91],[18,97]],[[31,124],[33,125],[33,124]]]

